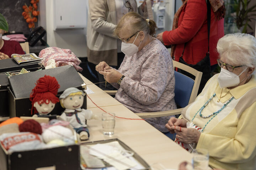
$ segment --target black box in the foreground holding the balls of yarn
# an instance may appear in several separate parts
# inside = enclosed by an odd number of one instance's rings
[[[35,118],[35,119],[38,119],[38,118]],[[47,118],[41,118],[41,119],[45,120]],[[62,147],[55,147],[55,148],[48,148],[48,149],[41,149],[41,150],[32,150],[32,151],[19,151],[19,152],[12,152],[12,153],[8,153],[2,147],[2,145],[0,145],[0,170],[43,170],[43,169],[44,170],[80,170],[79,145],[74,144],[69,146],[62,146]]]

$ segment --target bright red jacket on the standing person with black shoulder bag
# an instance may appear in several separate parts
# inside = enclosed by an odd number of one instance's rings
[[[162,35],[165,45],[176,44],[174,49],[175,61],[178,61],[187,42],[183,59],[188,64],[201,61],[208,52],[207,37],[207,4],[206,0],[188,0],[178,18],[175,30],[165,31]],[[224,19],[217,21],[211,8],[210,23],[210,63],[217,64],[217,42],[224,36]]]

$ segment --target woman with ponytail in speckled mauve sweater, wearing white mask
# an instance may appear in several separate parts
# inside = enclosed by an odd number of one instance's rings
[[[154,21],[135,12],[127,13],[114,32],[122,40],[125,54],[120,68],[113,69],[106,62],[96,66],[106,81],[118,89],[115,98],[134,113],[176,109],[172,59],[165,46],[152,37],[155,28]],[[169,119],[145,120],[161,132],[168,132],[165,124]]]

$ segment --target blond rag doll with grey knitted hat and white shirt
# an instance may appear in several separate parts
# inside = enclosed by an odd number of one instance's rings
[[[60,105],[65,108],[60,117],[73,126],[76,133],[79,134],[80,140],[89,138],[86,120],[98,119],[98,116],[93,115],[92,111],[81,108],[84,103],[84,96],[85,94],[82,90],[70,87],[59,97]]]

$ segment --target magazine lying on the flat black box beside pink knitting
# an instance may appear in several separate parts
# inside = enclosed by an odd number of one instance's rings
[[[30,54],[12,54],[11,58],[14,59],[19,65],[24,65],[24,64],[30,64],[30,63],[39,63],[43,58],[37,57],[34,53]]]

